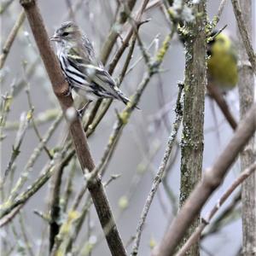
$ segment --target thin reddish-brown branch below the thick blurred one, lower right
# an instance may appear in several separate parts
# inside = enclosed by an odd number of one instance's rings
[[[249,177],[256,170],[256,162],[253,163],[252,166],[249,166],[246,170],[241,172],[239,177],[230,185],[230,187],[224,192],[224,194],[220,197],[216,205],[212,208],[212,210],[207,214],[207,218],[201,218],[201,224],[196,228],[195,232],[189,237],[189,240],[183,245],[183,247],[178,251],[176,256],[183,256],[189,250],[196,241],[199,241],[201,232],[205,229],[207,224],[210,223],[212,217],[218,212],[218,209],[224,204],[224,202],[229,198],[229,196],[233,193],[233,191],[243,183],[247,177]]]

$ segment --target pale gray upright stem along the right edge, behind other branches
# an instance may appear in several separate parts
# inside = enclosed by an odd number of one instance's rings
[[[247,28],[248,35],[253,34],[252,27],[252,8],[253,1],[240,1],[241,12],[243,16],[244,26]],[[238,32],[239,34],[239,32]],[[252,68],[245,65],[248,56],[244,44],[239,37],[239,54],[241,58],[241,69],[239,71],[239,102],[240,102],[240,115],[241,117],[247,113],[248,109],[251,108],[253,104],[254,95],[254,79]],[[252,38],[250,38],[252,39]],[[247,144],[245,150],[241,153],[241,170],[246,169],[248,166],[252,165],[255,160],[255,155],[253,154],[253,142],[254,138],[250,140]],[[256,173],[252,174],[251,178],[247,178],[241,185],[241,204],[242,204],[242,253],[243,255],[253,255],[256,248]]]

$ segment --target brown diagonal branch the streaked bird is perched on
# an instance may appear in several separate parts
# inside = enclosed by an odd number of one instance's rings
[[[72,96],[67,96],[68,84],[63,73],[61,73],[59,62],[49,45],[49,37],[45,30],[44,21],[40,15],[38,6],[34,0],[20,0],[20,4],[26,11],[27,19],[32,28],[36,43],[38,44],[38,49],[44,61],[44,67],[49,75],[55,96],[57,96],[61,104],[63,113],[66,113],[68,108],[73,108],[73,98]],[[75,116],[74,119],[70,121],[69,131],[73,138],[73,144],[82,171],[84,174],[91,172],[95,165],[79,117]],[[111,229],[108,230],[108,233],[104,233],[111,253],[113,255],[126,255],[125,247],[119,236],[113,213],[110,209],[100,178],[97,177],[94,183],[89,183],[88,189],[90,190],[90,195],[102,224],[102,229],[104,230],[105,226],[111,224]]]

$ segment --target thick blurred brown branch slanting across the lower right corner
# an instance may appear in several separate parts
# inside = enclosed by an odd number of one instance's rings
[[[256,104],[247,112],[239,123],[230,143],[224,148],[212,168],[204,172],[203,178],[197,184],[189,199],[184,203],[177,217],[172,221],[163,240],[155,247],[153,255],[172,255],[178,243],[182,240],[189,225],[194,221],[201,208],[207,202],[213,191],[222,183],[225,174],[236,160],[237,155],[253,136],[256,130]]]

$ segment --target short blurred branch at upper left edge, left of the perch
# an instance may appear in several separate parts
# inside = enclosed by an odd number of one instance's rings
[[[4,62],[9,54],[9,49],[12,47],[12,44],[15,41],[15,37],[19,32],[20,26],[22,25],[23,21],[25,20],[25,12],[24,10],[21,11],[18,19],[15,22],[15,26],[12,28],[6,42],[3,44],[2,54],[0,55],[0,69],[3,67]]]

